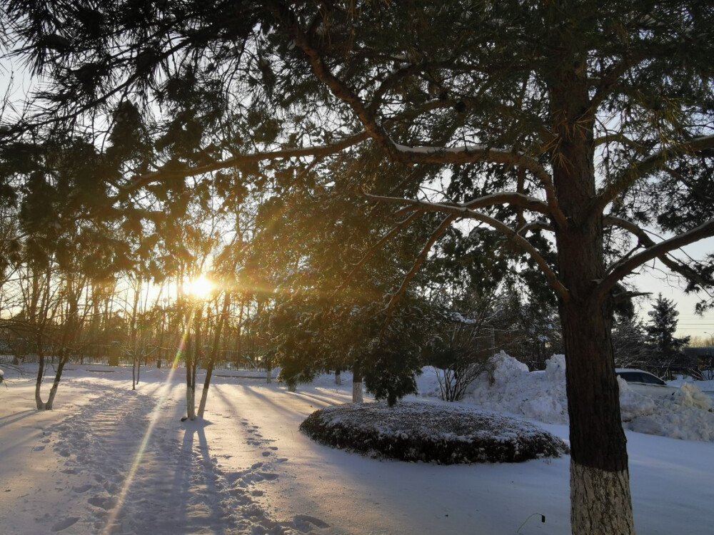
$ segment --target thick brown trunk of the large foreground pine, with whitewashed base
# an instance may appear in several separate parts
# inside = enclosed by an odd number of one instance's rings
[[[593,121],[588,83],[578,56],[563,58],[551,86],[553,182],[567,220],[555,231],[570,414],[570,521],[575,535],[634,534],[625,433],[615,377],[603,215],[593,209]]]

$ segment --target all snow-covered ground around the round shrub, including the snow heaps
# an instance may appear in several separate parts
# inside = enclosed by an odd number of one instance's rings
[[[180,371],[144,369],[134,392],[130,369],[71,368],[49,412],[34,409],[31,365],[25,377],[5,370],[2,534],[570,533],[568,457],[468,466],[378,461],[298,432],[314,410],[350,399],[348,375],[341,386],[325,375],[298,392],[264,379],[214,377],[206,419],[181,422]],[[464,404],[549,422],[540,425],[567,440],[559,368],[555,360],[529,374],[504,357],[493,385],[477,385]],[[419,386],[420,399],[438,402],[433,374]],[[646,405],[655,422],[680,414],[688,438],[626,431],[638,532],[710,534],[714,442],[692,429],[709,425],[712,413],[633,399],[634,412]]]

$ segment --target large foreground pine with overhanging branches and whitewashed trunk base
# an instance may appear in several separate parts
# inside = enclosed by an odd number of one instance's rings
[[[226,191],[333,173],[336,194],[351,182],[393,204],[396,230],[440,214],[416,268],[464,221],[470,237],[523,253],[513,269],[547,282],[560,307],[573,532],[634,532],[613,288],[655,258],[690,290],[713,287],[711,256],[669,254],[714,235],[710,4],[1,5],[12,54],[48,84],[4,136],[109,124],[124,102],[156,116],[156,167],[126,173],[117,198],[229,167],[241,172]]]

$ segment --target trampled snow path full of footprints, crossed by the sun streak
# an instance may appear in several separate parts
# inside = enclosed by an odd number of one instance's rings
[[[259,459],[223,469],[206,439],[211,422],[180,423],[181,385],[148,388],[154,392],[103,387],[77,414],[44,429],[36,448],[51,445],[59,457],[51,483],[60,496],[54,510],[36,516],[38,533],[271,535],[329,527],[307,515],[278,523],[256,502],[265,493],[259,484],[278,478],[273,465],[281,461],[258,427],[241,421],[233,443]]]

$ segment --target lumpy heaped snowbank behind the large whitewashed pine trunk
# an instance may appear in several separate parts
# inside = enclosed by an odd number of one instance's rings
[[[522,414],[547,424],[568,423],[565,394],[565,357],[554,355],[545,371],[528,372],[522,362],[499,353],[493,357],[490,374],[482,374],[462,400],[484,409]],[[714,442],[712,398],[690,382],[670,396],[650,397],[631,389],[618,378],[620,407],[626,429],[685,440]],[[436,395],[425,385],[426,395]]]

